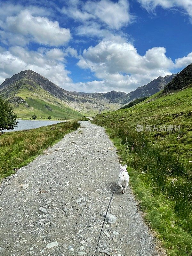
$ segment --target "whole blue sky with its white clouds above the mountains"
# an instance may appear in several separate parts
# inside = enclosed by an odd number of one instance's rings
[[[192,63],[192,0],[0,1],[0,84],[126,93]]]

